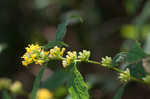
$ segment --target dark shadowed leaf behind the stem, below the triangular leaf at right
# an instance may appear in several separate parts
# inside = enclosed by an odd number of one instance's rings
[[[136,64],[131,64],[128,66],[130,69],[131,76],[141,79],[146,76],[146,72],[144,70],[144,67],[142,66],[142,62],[138,62]]]

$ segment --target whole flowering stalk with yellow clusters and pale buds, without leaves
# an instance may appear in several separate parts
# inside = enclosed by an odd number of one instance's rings
[[[77,53],[76,51],[68,51],[65,57],[64,57],[64,53],[65,53],[65,48],[59,48],[55,46],[49,51],[44,51],[44,49],[38,44],[36,45],[31,44],[28,47],[26,47],[26,53],[22,56],[23,58],[22,64],[24,66],[27,66],[31,63],[43,65],[44,63],[50,60],[61,60],[63,67],[66,68],[71,63],[84,61],[91,64],[97,64],[118,72],[119,79],[121,82],[128,82],[132,80],[142,84],[148,84],[146,80],[137,79],[131,76],[129,69],[123,71],[116,67],[113,67],[111,57],[106,56],[105,58],[102,58],[101,62],[97,62],[97,61],[89,60],[91,53],[90,51],[87,50],[83,50],[82,52],[79,53]]]

